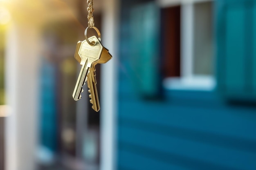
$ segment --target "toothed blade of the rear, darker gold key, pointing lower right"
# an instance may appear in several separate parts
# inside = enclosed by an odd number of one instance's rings
[[[88,73],[88,79],[87,79],[87,85],[88,85],[88,92],[90,97],[90,103],[92,104],[93,110],[96,112],[99,112],[100,105],[99,105],[99,96],[97,91],[97,82],[95,79],[95,69],[94,66],[92,66],[90,73]]]

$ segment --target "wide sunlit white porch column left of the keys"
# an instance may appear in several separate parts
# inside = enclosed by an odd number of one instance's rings
[[[6,48],[5,169],[35,170],[38,131],[38,29],[11,24]]]

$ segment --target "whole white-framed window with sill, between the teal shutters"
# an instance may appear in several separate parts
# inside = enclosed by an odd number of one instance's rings
[[[190,0],[180,6],[168,8],[166,8],[166,5],[169,6],[167,2],[162,0],[160,4],[165,8],[162,21],[166,18],[164,22],[170,23],[170,28],[164,31],[169,34],[162,36],[169,42],[163,51],[164,60],[168,58],[170,62],[167,62],[168,66],[164,68],[168,67],[173,71],[180,67],[180,73],[178,71],[174,74],[172,71],[164,73],[164,87],[180,90],[213,90],[215,87],[213,2]],[[180,25],[177,25],[179,23]],[[162,30],[167,27],[162,25]],[[179,28],[180,35],[177,31]],[[177,44],[180,44],[180,49]],[[180,53],[177,50],[180,50]]]

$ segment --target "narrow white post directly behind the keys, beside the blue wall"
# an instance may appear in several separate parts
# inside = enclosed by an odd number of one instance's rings
[[[116,169],[118,11],[119,0],[103,0],[102,44],[113,57],[101,69],[100,170]]]

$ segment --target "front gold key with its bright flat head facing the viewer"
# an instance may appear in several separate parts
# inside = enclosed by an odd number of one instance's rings
[[[85,84],[86,77],[89,69],[92,67],[94,62],[97,62],[100,58],[103,46],[99,42],[96,36],[89,38],[89,41],[94,44],[91,46],[86,40],[78,42],[76,46],[75,58],[80,58],[80,64],[82,65],[79,77],[76,82],[76,86],[73,92],[73,98],[75,101],[81,99],[81,93],[83,92],[82,86]]]

